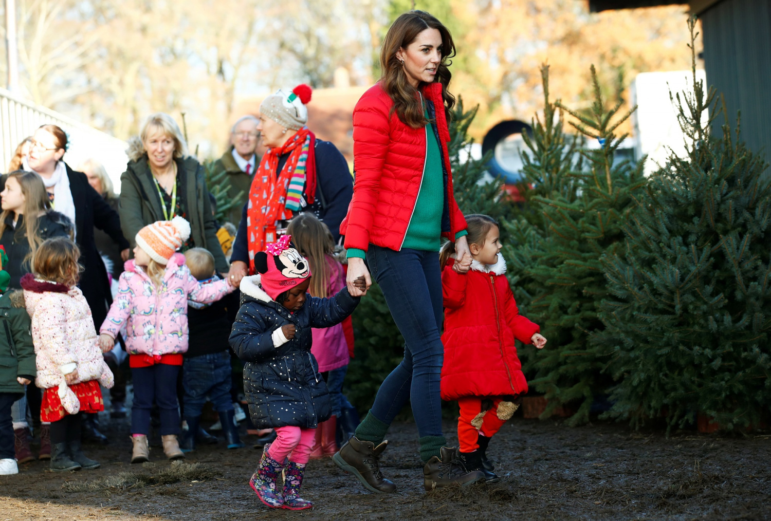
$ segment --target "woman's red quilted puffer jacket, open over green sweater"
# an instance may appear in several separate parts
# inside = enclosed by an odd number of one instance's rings
[[[445,209],[442,234],[455,240],[466,229],[466,219],[453,196],[449,168],[449,129],[444,113],[442,85],[423,88],[429,115],[436,114],[445,171]],[[415,208],[426,163],[426,129],[413,129],[391,113],[392,99],[379,84],[364,93],[353,110],[353,164],[355,182],[348,215],[340,225],[346,248],[367,250],[370,243],[400,250]],[[437,107],[434,110],[434,107]]]

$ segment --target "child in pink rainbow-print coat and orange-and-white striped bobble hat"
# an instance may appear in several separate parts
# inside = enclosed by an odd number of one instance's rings
[[[190,237],[182,217],[161,220],[136,234],[134,259],[120,275],[118,294],[102,324],[103,349],[112,348],[126,324],[126,352],[134,382],[132,463],[149,461],[150,408],[160,408],[160,434],[168,459],[184,458],[177,435],[177,375],[187,351],[187,301],[210,304],[234,291],[229,281],[200,284],[175,253]]]

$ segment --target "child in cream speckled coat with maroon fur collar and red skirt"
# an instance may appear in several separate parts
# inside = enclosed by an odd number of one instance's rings
[[[45,240],[35,252],[34,275],[22,277],[25,306],[32,319],[37,378],[45,389],[40,419],[51,422],[51,470],[96,469],[83,454],[83,412],[104,410],[102,391],[113,373],[99,349],[91,309],[76,284],[80,250],[72,240]]]

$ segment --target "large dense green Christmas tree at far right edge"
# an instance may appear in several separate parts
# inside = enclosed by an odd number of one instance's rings
[[[609,415],[665,416],[671,429],[701,412],[731,429],[771,404],[771,183],[738,124],[710,136],[725,109],[696,79],[689,25],[693,92],[673,98],[687,153],[651,176],[624,247],[604,258],[611,297],[594,344],[613,353]]]

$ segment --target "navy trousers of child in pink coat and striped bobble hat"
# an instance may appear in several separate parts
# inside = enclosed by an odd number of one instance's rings
[[[180,433],[177,403],[177,374],[181,365],[156,364],[131,368],[134,402],[131,406],[131,433],[150,433],[150,408],[153,399],[160,409],[160,435]]]

